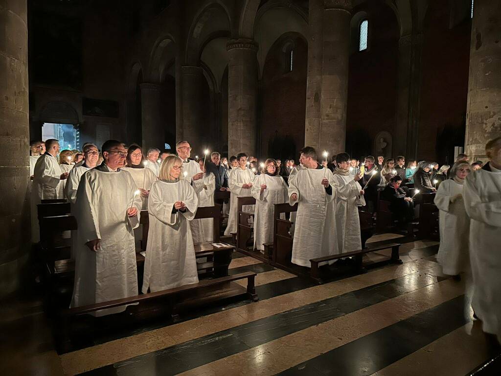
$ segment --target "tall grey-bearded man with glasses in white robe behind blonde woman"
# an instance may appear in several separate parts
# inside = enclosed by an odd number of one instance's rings
[[[191,146],[188,141],[179,141],[176,143],[176,152],[179,158],[181,158],[183,163],[183,172],[181,179],[186,179],[193,189],[195,194],[199,197],[200,192],[203,189],[203,172],[200,169],[200,165],[196,160],[189,159],[191,155]],[[195,243],[204,242],[201,220],[190,221],[191,234],[193,236],[193,241]]]

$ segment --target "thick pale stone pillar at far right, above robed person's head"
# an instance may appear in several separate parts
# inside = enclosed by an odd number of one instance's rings
[[[485,159],[485,143],[501,136],[501,2],[474,3],[465,153]]]

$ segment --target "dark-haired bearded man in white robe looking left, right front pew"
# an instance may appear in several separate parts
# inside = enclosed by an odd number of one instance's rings
[[[338,253],[333,232],[333,176],[317,162],[313,147],[301,150],[299,161],[301,166],[289,178],[289,204],[298,203],[291,261],[311,267],[311,259]]]

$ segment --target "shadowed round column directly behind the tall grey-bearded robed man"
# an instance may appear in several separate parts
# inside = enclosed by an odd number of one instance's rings
[[[201,80],[204,80],[202,68],[185,65],[181,67],[183,125],[177,141],[186,140],[194,150],[201,150],[202,134],[210,129],[207,119],[200,116],[201,101],[210,101],[200,95]]]

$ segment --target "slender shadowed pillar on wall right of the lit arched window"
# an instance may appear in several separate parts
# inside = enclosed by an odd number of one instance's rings
[[[398,92],[394,154],[408,159],[418,154],[421,92],[422,34],[405,35],[398,41]]]

